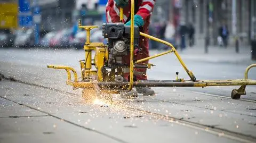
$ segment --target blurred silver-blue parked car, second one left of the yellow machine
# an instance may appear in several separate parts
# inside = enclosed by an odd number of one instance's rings
[[[63,29],[59,31],[50,40],[50,47],[69,47],[70,37],[71,37],[71,29]]]

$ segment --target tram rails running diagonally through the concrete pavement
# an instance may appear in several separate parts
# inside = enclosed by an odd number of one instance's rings
[[[62,94],[68,95],[68,96],[70,96],[72,98],[75,98],[75,99],[81,99],[81,98],[74,97],[74,95],[77,96],[78,94],[74,94],[72,92],[67,92],[67,91],[63,91],[63,90],[59,90],[59,89],[55,89],[55,88],[51,88],[51,87],[37,85],[35,83],[21,81],[21,80],[17,80],[17,79],[11,78],[11,77],[7,78],[7,77],[4,77],[3,75],[1,76],[1,74],[0,74],[0,77],[2,77],[2,79],[9,80],[11,82],[19,82],[19,83],[23,83],[23,84],[29,85],[29,86],[39,87],[39,88],[43,88],[43,89],[47,89],[47,90],[53,90],[53,91],[60,92]],[[125,142],[125,141],[123,141],[121,139],[118,139],[116,137],[110,136],[110,135],[108,135],[106,133],[103,133],[103,132],[100,132],[100,131],[96,131],[96,130],[93,130],[93,129],[90,129],[90,128],[86,128],[83,125],[79,125],[79,124],[76,124],[74,122],[62,119],[61,117],[59,117],[57,115],[53,115],[53,114],[51,114],[49,112],[38,110],[35,107],[15,102],[14,100],[8,99],[8,98],[3,97],[3,96],[0,96],[0,97],[4,98],[6,100],[9,100],[10,102],[13,102],[15,104],[26,106],[26,107],[31,108],[33,110],[45,113],[45,114],[47,114],[49,116],[52,116],[52,117],[54,117],[56,119],[63,120],[65,122],[73,124],[73,125],[75,125],[77,127],[80,127],[80,128],[86,129],[86,130],[90,130],[90,131],[94,131],[94,132],[100,133],[103,136],[107,136],[107,137],[109,137],[111,139],[114,139],[116,141],[119,141],[119,142]],[[163,102],[163,100],[159,100],[159,101]],[[166,101],[164,101],[164,102],[166,102]],[[245,102],[248,102],[248,101],[245,101]],[[115,104],[113,106],[115,106]],[[125,106],[124,105],[123,109],[127,109],[127,110],[130,110],[132,112],[136,112],[136,113],[140,112],[143,115],[152,116],[152,117],[154,117],[154,119],[157,119],[157,120],[163,120],[163,121],[175,123],[175,124],[178,124],[178,125],[183,125],[183,126],[188,127],[188,128],[205,131],[205,132],[214,134],[215,136],[225,137],[225,138],[229,138],[229,139],[240,141],[240,142],[251,143],[251,142],[255,142],[255,140],[256,140],[256,137],[253,137],[253,136],[250,136],[250,135],[247,135],[247,134],[237,133],[237,132],[233,132],[233,131],[222,129],[222,128],[216,128],[216,127],[213,127],[211,125],[205,125],[205,124],[196,123],[196,122],[192,122],[192,121],[181,120],[181,119],[178,119],[177,117],[173,117],[173,116],[169,116],[169,115],[164,115],[164,114],[159,114],[159,113],[155,113],[155,112],[150,112],[150,111],[146,111],[146,110],[141,110],[140,108],[133,108],[133,107],[129,107],[129,106]]]

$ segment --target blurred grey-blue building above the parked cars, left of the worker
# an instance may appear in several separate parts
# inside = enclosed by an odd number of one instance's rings
[[[39,5],[42,13],[41,28],[45,30],[68,28],[81,18],[85,23],[102,20],[101,12],[98,11],[98,1],[95,0],[44,0],[39,1]]]

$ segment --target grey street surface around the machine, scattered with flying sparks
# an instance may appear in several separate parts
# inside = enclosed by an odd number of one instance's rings
[[[150,51],[156,54],[157,51]],[[221,52],[223,53],[223,52]],[[229,52],[230,53],[230,52]],[[241,79],[241,55],[181,53],[197,79]],[[239,61],[231,57],[243,57]],[[153,88],[153,97],[88,104],[81,89],[65,83],[66,72],[47,64],[73,66],[84,52],[74,49],[0,49],[0,142],[255,142],[256,88],[230,98],[238,87]],[[202,60],[205,59],[205,60]],[[149,79],[188,78],[174,55],[150,61]],[[7,79],[12,77],[15,81]],[[249,72],[256,79],[256,68]]]

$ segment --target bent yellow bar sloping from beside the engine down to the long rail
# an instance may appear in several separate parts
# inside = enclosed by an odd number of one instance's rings
[[[144,36],[144,37],[146,37],[146,38],[149,38],[149,39],[151,39],[151,40],[158,41],[159,43],[163,43],[163,44],[165,44],[165,45],[167,45],[167,46],[170,46],[170,47],[171,47],[171,50],[174,52],[174,54],[175,54],[176,57],[178,58],[179,62],[181,63],[181,65],[182,65],[182,67],[185,69],[185,71],[188,73],[188,75],[189,75],[189,77],[191,78],[191,80],[193,80],[193,81],[196,80],[196,78],[195,78],[193,72],[191,72],[191,71],[188,70],[187,66],[186,66],[185,63],[182,61],[182,59],[181,59],[179,53],[176,51],[176,49],[174,48],[174,46],[173,46],[171,43],[169,43],[169,42],[167,42],[167,41],[164,41],[164,40],[161,40],[161,39],[158,39],[158,38],[156,38],[156,37],[147,35],[146,33],[143,33],[143,32],[140,32],[140,35],[141,35],[141,36]],[[142,61],[143,61],[143,59],[142,59]]]

